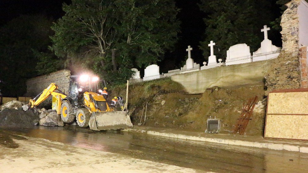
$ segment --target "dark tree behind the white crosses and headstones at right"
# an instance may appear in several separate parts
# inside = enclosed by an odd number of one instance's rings
[[[202,0],[199,6],[208,14],[204,19],[205,41],[200,43],[205,57],[209,56],[211,40],[216,42],[215,54],[222,59],[229,47],[238,43],[256,51],[264,39],[260,29],[274,19],[268,13],[271,4],[267,0]]]

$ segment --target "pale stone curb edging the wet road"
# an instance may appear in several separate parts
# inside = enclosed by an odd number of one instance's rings
[[[249,141],[232,140],[232,139],[205,138],[205,137],[200,137],[200,136],[189,136],[189,135],[184,135],[184,134],[173,134],[173,133],[164,133],[164,132],[156,132],[156,131],[151,131],[151,130],[139,130],[139,129],[124,129],[122,131],[144,133],[144,134],[163,136],[163,137],[168,137],[168,138],[177,138],[177,139],[185,139],[185,140],[193,140],[193,141],[213,142],[213,143],[227,144],[227,145],[249,146],[249,147],[257,147],[257,148],[268,148],[271,150],[287,150],[287,151],[296,151],[300,153],[308,153],[308,147],[287,145],[287,144],[280,144],[280,143],[249,142]]]

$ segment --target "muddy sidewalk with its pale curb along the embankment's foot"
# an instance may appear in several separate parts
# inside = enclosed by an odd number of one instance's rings
[[[267,139],[262,136],[244,136],[239,134],[208,134],[173,130],[167,128],[154,128],[135,126],[123,131],[134,133],[145,133],[169,138],[186,139],[203,142],[213,142],[228,145],[249,146],[257,148],[268,148],[272,150],[287,150],[308,153],[308,141]]]

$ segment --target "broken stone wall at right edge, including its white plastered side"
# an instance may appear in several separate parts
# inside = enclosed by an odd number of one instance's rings
[[[301,88],[302,71],[307,70],[306,63],[301,63],[301,46],[307,46],[308,40],[308,3],[304,0],[292,0],[282,14],[282,51],[267,72],[265,79],[266,94],[276,89]],[[303,45],[306,44],[306,45]],[[301,55],[301,56],[300,56]],[[306,55],[306,54],[305,54]],[[306,73],[304,73],[305,77]]]

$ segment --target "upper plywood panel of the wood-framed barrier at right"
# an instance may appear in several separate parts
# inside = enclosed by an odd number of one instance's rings
[[[270,93],[268,114],[307,114],[308,92]]]

